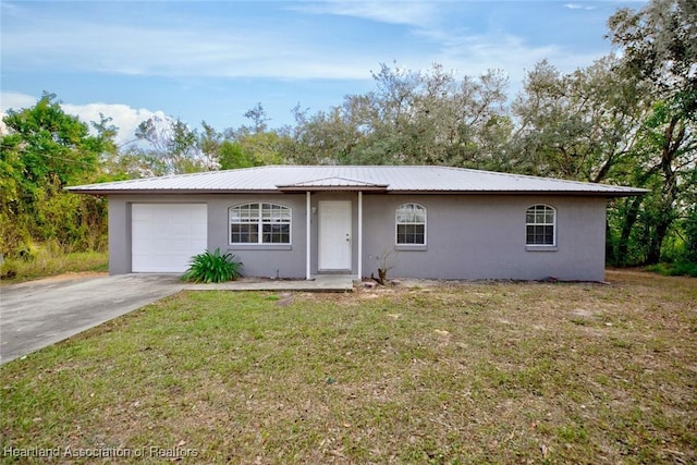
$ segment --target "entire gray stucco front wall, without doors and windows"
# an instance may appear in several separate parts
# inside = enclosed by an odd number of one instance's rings
[[[352,273],[358,264],[356,193],[314,193],[310,198],[310,272],[317,273],[318,205],[351,200]],[[380,195],[363,196],[363,276],[377,276],[378,257],[398,250],[391,277],[435,279],[604,279],[606,200],[595,197]],[[292,209],[290,246],[229,244],[228,209],[262,201]],[[133,203],[205,203],[208,248],[235,255],[246,276],[304,278],[306,273],[305,194],[269,195],[114,195],[109,198],[109,271],[131,272]],[[395,209],[417,203],[427,209],[427,245],[395,246]],[[536,204],[557,209],[557,247],[531,252],[525,245],[525,211]]]

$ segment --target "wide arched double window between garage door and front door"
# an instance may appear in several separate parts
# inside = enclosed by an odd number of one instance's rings
[[[230,208],[230,244],[290,244],[291,209],[277,204]]]

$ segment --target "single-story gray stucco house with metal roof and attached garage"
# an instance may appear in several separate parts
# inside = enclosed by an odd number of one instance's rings
[[[69,187],[109,199],[109,270],[604,279],[606,201],[644,189],[447,167],[272,166]]]

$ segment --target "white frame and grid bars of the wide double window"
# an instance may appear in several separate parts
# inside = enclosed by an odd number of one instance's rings
[[[267,208],[265,209],[265,206]],[[280,217],[288,216],[288,220],[283,221],[273,221],[273,210],[279,209],[282,213]],[[237,210],[242,211],[254,211],[256,210],[256,216],[254,218],[247,217],[244,215],[237,213],[237,217],[242,219],[242,221],[232,221],[233,211]],[[277,217],[279,215],[277,213]],[[245,221],[246,220],[246,221]],[[265,221],[266,220],[266,221]],[[249,234],[257,235],[257,242],[233,242],[232,240],[232,225],[233,224],[248,224],[255,225],[256,232]],[[264,242],[265,236],[273,235],[273,232],[265,232],[265,225],[278,225],[288,224],[288,242]],[[283,233],[281,233],[283,234]],[[234,247],[262,247],[262,248],[288,248],[293,244],[293,209],[291,207],[286,207],[285,205],[276,204],[272,201],[249,201],[246,204],[237,204],[228,208],[228,244]]]

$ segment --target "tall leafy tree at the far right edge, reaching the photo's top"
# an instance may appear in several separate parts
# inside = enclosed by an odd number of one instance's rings
[[[697,7],[689,0],[653,0],[610,17],[609,37],[623,50],[620,71],[649,88],[652,110],[639,137],[647,170],[660,178],[645,225],[646,261],[658,262],[674,222],[686,216],[682,198],[697,162]]]

